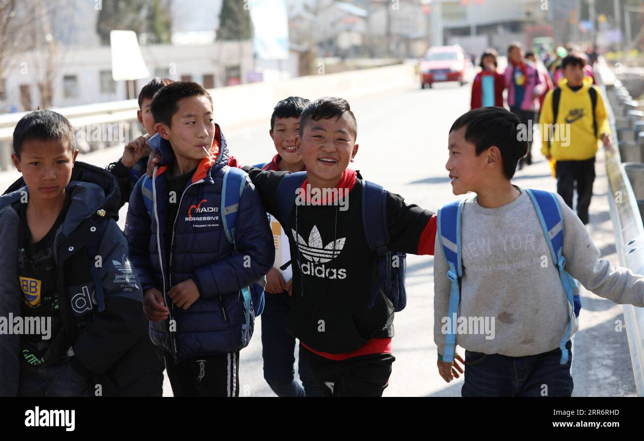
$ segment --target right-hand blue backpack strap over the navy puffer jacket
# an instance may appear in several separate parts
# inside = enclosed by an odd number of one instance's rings
[[[220,215],[222,216],[223,230],[226,238],[232,243],[235,250],[237,250],[235,244],[235,223],[237,221],[240,199],[242,198],[247,176],[245,171],[237,167],[227,166],[223,172],[222,207],[220,207]],[[249,326],[251,323],[251,289],[249,286],[242,288],[242,295],[246,308],[245,325]]]

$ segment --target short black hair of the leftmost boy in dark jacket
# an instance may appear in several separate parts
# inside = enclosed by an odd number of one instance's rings
[[[26,140],[61,140],[71,151],[76,149],[76,138],[70,121],[51,110],[35,110],[20,118],[14,129],[14,153],[20,159]]]

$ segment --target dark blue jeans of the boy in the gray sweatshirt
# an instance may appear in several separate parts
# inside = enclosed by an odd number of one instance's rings
[[[559,364],[562,352],[507,357],[498,353],[465,352],[463,397],[570,397],[573,393],[572,342],[567,364]]]

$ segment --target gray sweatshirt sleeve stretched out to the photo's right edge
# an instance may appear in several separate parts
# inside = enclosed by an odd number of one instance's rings
[[[564,214],[565,268],[585,288],[615,303],[644,306],[644,276],[628,268],[613,267],[600,259],[600,250],[592,242],[582,221],[557,195]]]

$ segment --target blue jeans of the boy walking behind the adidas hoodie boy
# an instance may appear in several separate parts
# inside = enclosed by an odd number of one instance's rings
[[[286,330],[291,298],[288,293],[265,294],[261,313],[261,357],[264,379],[278,397],[322,397],[317,383],[299,346],[299,379],[295,379],[295,337]]]

